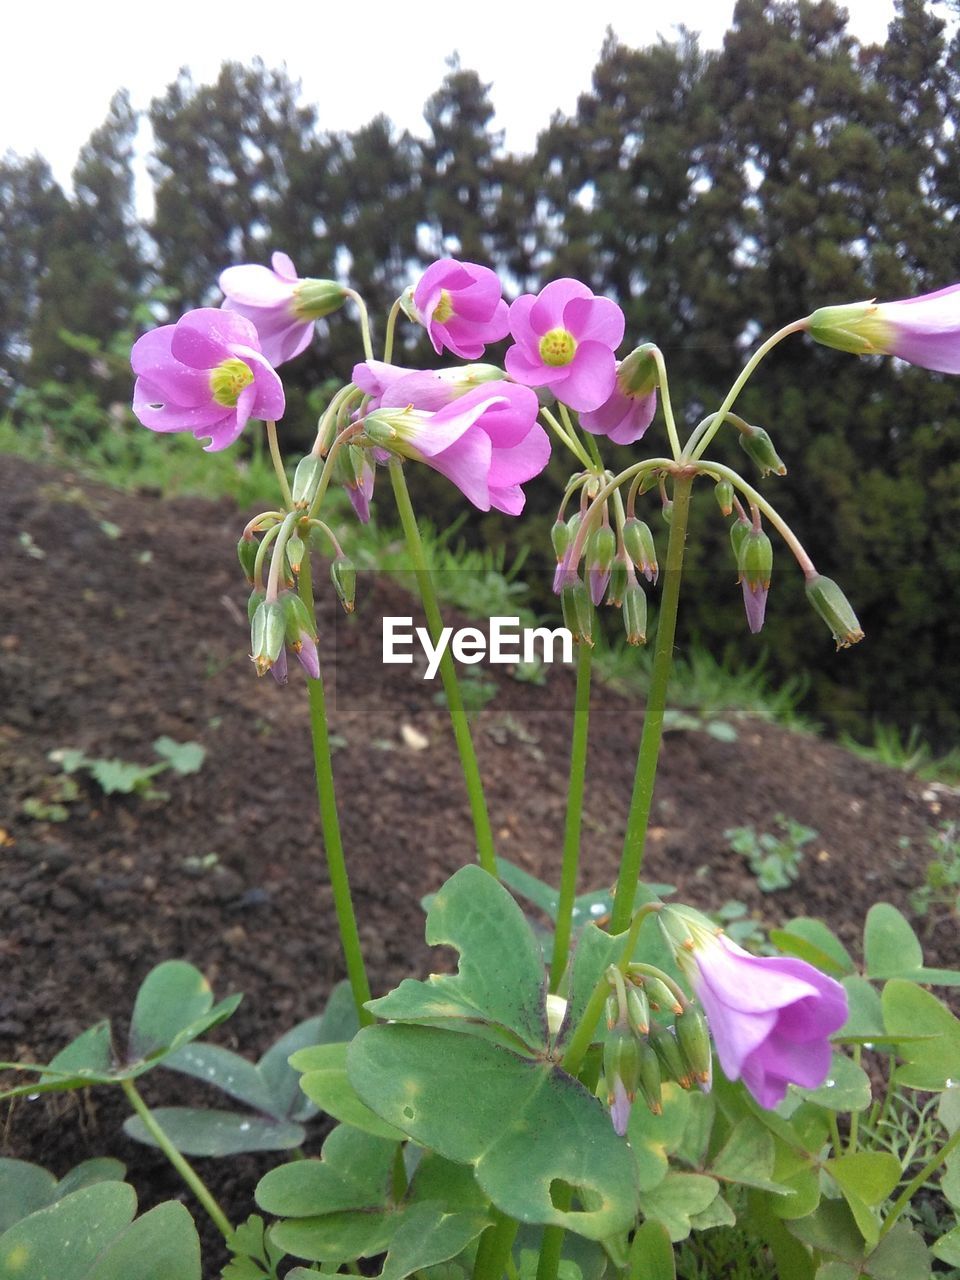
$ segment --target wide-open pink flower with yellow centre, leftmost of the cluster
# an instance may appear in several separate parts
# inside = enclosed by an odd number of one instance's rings
[[[201,307],[133,344],[133,412],[151,431],[207,436],[207,451],[233,444],[251,417],[283,415],[283,385],[260,351],[250,320]]]

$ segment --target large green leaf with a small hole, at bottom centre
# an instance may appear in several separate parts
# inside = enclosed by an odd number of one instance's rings
[[[503,1212],[603,1239],[634,1221],[636,1166],[605,1108],[548,1061],[431,1027],[367,1027],[351,1044],[349,1079],[389,1124],[448,1160],[471,1164]],[[532,1140],[535,1139],[535,1140]],[[557,1210],[561,1179],[598,1198]]]

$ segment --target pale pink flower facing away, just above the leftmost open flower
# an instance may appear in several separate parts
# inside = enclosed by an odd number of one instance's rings
[[[224,307],[256,325],[260,346],[271,365],[293,360],[314,335],[314,321],[335,311],[347,296],[335,280],[301,280],[285,253],[268,266],[228,266],[220,273]]]

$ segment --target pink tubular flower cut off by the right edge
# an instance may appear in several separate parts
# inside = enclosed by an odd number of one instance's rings
[[[815,342],[855,356],[897,356],[960,374],[960,284],[899,302],[819,307],[805,326]]]

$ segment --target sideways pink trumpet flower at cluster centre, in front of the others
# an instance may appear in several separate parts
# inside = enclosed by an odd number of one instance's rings
[[[518,516],[521,484],[550,458],[549,438],[536,421],[536,396],[512,383],[488,383],[431,413],[411,406],[402,383],[367,416],[367,435],[392,453],[426,462],[480,511],[495,507]]]

